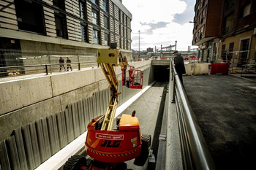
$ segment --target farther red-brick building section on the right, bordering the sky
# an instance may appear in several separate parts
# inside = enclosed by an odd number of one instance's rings
[[[213,61],[217,54],[217,38],[222,20],[222,0],[197,0],[192,45],[198,46],[200,61]]]

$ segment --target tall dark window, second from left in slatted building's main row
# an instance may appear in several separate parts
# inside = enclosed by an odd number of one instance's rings
[[[63,14],[54,13],[57,36],[67,39],[67,20]]]

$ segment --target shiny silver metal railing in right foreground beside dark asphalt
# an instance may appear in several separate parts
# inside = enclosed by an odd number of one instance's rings
[[[173,103],[176,103],[178,131],[181,143],[183,169],[215,169],[214,161],[200,130],[194,112],[181,81],[178,78],[173,61],[170,62],[173,80]]]

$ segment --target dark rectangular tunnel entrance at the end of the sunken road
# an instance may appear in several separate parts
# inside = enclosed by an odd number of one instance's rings
[[[154,80],[157,82],[168,82],[170,77],[170,66],[153,66]]]

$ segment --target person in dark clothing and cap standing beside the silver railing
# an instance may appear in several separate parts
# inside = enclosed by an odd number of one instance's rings
[[[181,56],[181,54],[178,53],[177,50],[173,52],[173,55],[174,55],[174,67],[178,74],[178,78],[181,81],[181,84],[184,88],[183,79],[182,79],[182,74],[186,73],[185,66],[184,66],[184,58]]]

